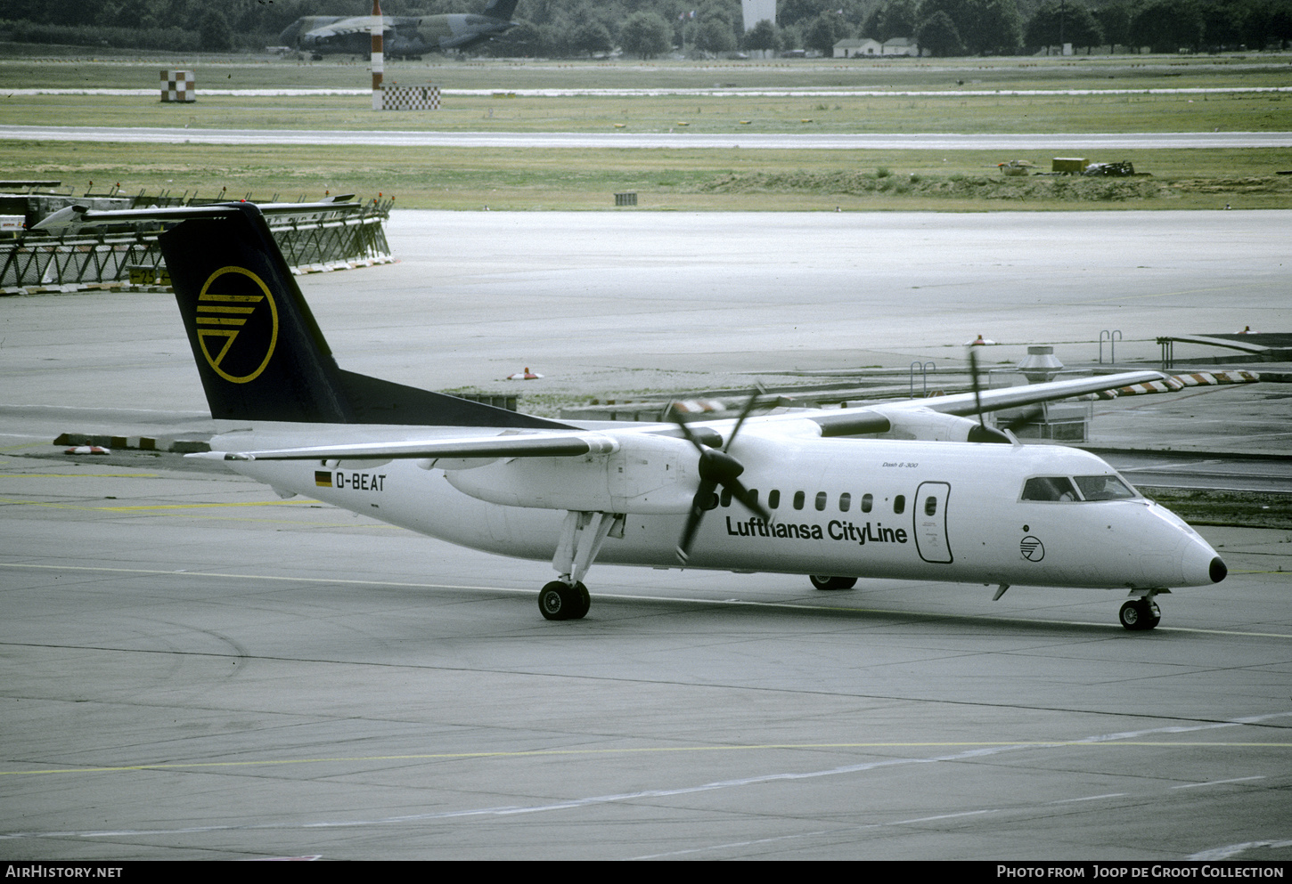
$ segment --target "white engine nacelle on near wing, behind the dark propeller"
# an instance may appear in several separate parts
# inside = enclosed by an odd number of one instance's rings
[[[481,501],[585,512],[689,512],[699,487],[690,443],[649,434],[620,436],[619,450],[583,457],[501,459],[444,477]]]

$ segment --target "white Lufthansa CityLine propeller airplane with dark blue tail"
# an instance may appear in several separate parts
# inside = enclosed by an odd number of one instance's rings
[[[588,613],[593,561],[806,574],[820,590],[1127,590],[1128,630],[1158,625],[1158,594],[1226,576],[1098,457],[981,421],[1156,372],[756,417],[751,399],[736,419],[690,423],[549,421],[337,368],[255,205],[158,216],[182,219],[160,245],[212,417],[248,423],[203,457],[283,496],[550,561],[548,619]]]

